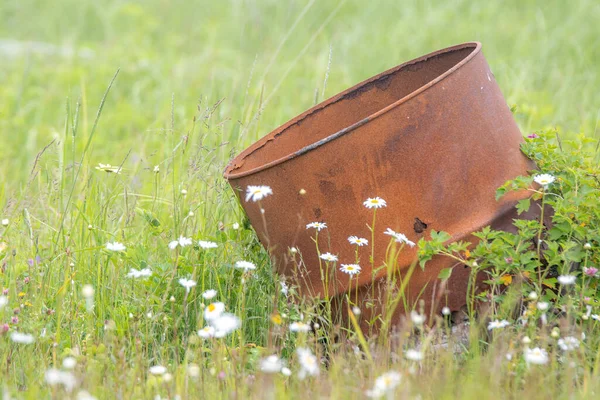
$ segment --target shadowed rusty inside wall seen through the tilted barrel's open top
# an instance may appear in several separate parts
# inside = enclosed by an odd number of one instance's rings
[[[361,121],[444,74],[476,47],[467,44],[408,62],[324,101],[263,137],[226,174],[260,168]]]

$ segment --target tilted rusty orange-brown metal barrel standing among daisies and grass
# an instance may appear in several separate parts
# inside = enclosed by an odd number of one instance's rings
[[[372,272],[369,256],[374,244],[375,266],[384,263],[391,239],[386,228],[413,242],[432,229],[450,233],[452,240],[469,240],[487,225],[511,228],[514,205],[526,194],[496,201],[495,191],[534,168],[519,149],[521,141],[481,44],[465,43],[404,63],[318,104],[243,151],[225,177],[278,272],[299,278],[305,295],[348,291],[351,277],[339,265],[355,262],[356,246],[347,238],[369,239],[359,251],[362,271],[352,278],[365,300],[373,276],[385,276],[385,268]],[[273,195],[260,206],[246,202],[248,185],[268,185]],[[367,224],[373,210],[363,202],[375,196],[387,207],[377,210],[372,243]],[[315,230],[306,229],[314,221],[327,223],[319,232],[320,252],[339,258],[327,287]],[[291,262],[291,247],[301,253],[300,266]],[[405,246],[399,255],[401,274],[416,251]],[[434,292],[440,270],[452,265],[434,258],[424,271],[417,268],[409,299],[422,298],[428,308],[459,309],[465,304],[467,268],[455,268],[443,293]]]

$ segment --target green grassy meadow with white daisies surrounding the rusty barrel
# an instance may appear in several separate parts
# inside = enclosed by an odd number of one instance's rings
[[[3,398],[598,398],[598,21],[594,0],[0,2]],[[544,255],[493,234],[473,255],[529,324],[498,307],[443,345],[448,327],[413,318],[385,351],[292,332],[314,309],[281,293],[225,165],[316,102],[474,40],[557,178],[535,193],[555,212]],[[576,283],[512,290],[546,267]],[[203,337],[211,302],[231,313],[222,338]]]

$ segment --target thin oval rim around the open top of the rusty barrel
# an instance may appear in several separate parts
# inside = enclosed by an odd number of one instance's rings
[[[386,75],[391,75],[395,72],[398,72],[399,70],[411,65],[411,64],[416,64],[422,61],[427,61],[427,59],[435,57],[437,55],[443,54],[443,53],[448,53],[448,52],[452,52],[452,51],[456,51],[456,50],[461,50],[461,49],[467,49],[467,48],[472,48],[473,50],[462,60],[460,60],[458,63],[456,63],[452,68],[448,69],[446,72],[438,75],[436,78],[432,79],[431,81],[427,82],[425,85],[419,87],[418,89],[410,92],[409,94],[407,94],[406,96],[396,100],[395,102],[387,105],[386,107],[378,110],[377,112],[367,116],[366,118],[361,119],[358,122],[355,122],[352,125],[349,125],[348,127],[341,129],[321,140],[318,140],[308,146],[305,146],[303,148],[301,148],[300,150],[297,150],[291,154],[288,154],[284,157],[280,157],[276,160],[273,161],[269,161],[267,163],[264,163],[263,165],[260,165],[258,167],[254,167],[251,168],[247,171],[242,171],[242,172],[238,172],[235,173],[233,172],[235,169],[238,168],[238,166],[236,166],[236,161],[241,161],[244,160],[246,157],[250,156],[254,151],[256,151],[258,148],[260,148],[263,144],[265,144],[266,142],[268,142],[269,140],[272,140],[273,137],[275,137],[276,135],[278,135],[279,133],[285,131],[288,127],[290,127],[293,124],[296,124],[297,122],[301,121],[302,119],[304,119],[307,115],[310,115],[314,112],[318,112],[321,109],[324,109],[325,107],[327,107],[328,105],[336,102],[339,98],[354,92],[358,89],[360,89],[361,87],[369,84],[372,81],[376,81],[377,79],[380,79],[381,77],[384,77]],[[362,125],[374,120],[377,117],[380,117],[381,115],[393,110],[394,108],[402,105],[403,103],[407,102],[408,100],[420,95],[421,93],[425,92],[426,90],[430,89],[431,87],[437,85],[438,83],[440,83],[441,81],[443,81],[445,78],[447,78],[448,76],[454,74],[458,69],[460,69],[461,67],[463,67],[465,64],[469,63],[473,58],[475,58],[475,56],[477,56],[477,54],[479,54],[481,52],[481,43],[480,42],[466,42],[466,43],[462,43],[462,44],[458,44],[458,45],[454,45],[454,46],[450,46],[450,47],[446,47],[444,49],[441,50],[437,50],[434,52],[431,52],[429,54],[423,55],[421,57],[417,57],[415,59],[412,59],[410,61],[404,62],[400,65],[397,65],[393,68],[390,68],[380,74],[377,74],[369,79],[366,79],[338,94],[336,94],[335,96],[330,97],[327,100],[322,101],[321,103],[317,104],[316,106],[310,108],[309,110],[303,112],[302,114],[298,115],[297,117],[291,119],[290,121],[286,122],[285,124],[281,125],[280,127],[278,127],[277,129],[271,131],[269,134],[265,135],[264,137],[262,137],[261,139],[259,139],[258,141],[256,141],[254,144],[252,144],[250,147],[248,147],[246,150],[242,151],[237,157],[235,157],[233,160],[231,160],[229,162],[229,164],[225,167],[225,171],[223,173],[224,177],[228,180],[231,179],[237,179],[237,178],[243,178],[249,175],[253,175],[256,174],[258,172],[264,171],[266,169],[275,167],[277,165],[280,165],[286,161],[289,161],[293,158],[299,157],[305,153],[308,153],[309,151],[312,151],[316,148],[321,147],[322,145],[331,142],[337,138],[339,138],[342,135],[345,135],[349,132],[352,132],[353,130],[361,127]]]

